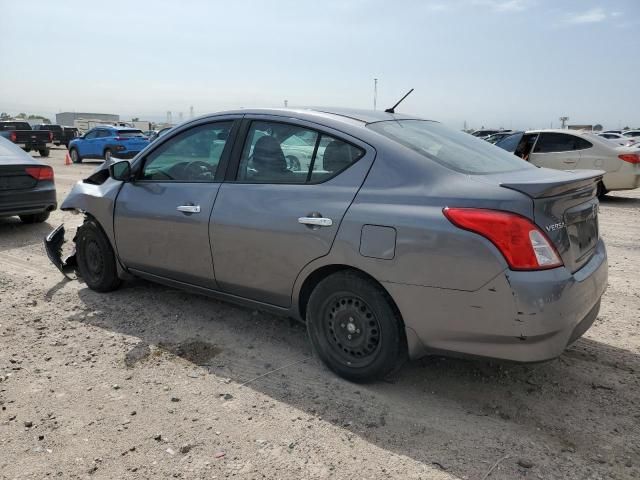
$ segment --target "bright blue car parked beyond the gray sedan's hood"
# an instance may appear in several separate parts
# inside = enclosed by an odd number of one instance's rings
[[[85,158],[133,158],[149,144],[142,130],[129,127],[95,127],[69,143],[73,163]]]

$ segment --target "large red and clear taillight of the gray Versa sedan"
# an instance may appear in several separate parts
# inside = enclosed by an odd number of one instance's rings
[[[443,213],[457,227],[493,243],[512,270],[544,270],[562,265],[549,238],[521,215],[479,208],[445,208]]]

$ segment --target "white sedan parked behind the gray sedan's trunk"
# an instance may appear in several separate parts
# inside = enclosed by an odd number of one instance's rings
[[[538,167],[556,170],[604,170],[598,194],[640,187],[640,150],[579,130],[530,130],[496,146]]]

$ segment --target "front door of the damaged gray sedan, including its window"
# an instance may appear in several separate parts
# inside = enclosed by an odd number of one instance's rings
[[[209,218],[232,124],[198,125],[165,139],[142,159],[136,180],[123,185],[114,226],[128,268],[216,288]]]

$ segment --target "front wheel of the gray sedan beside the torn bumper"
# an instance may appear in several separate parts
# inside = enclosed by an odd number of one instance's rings
[[[78,274],[91,290],[110,292],[120,286],[116,257],[109,239],[93,219],[87,219],[76,235]]]

